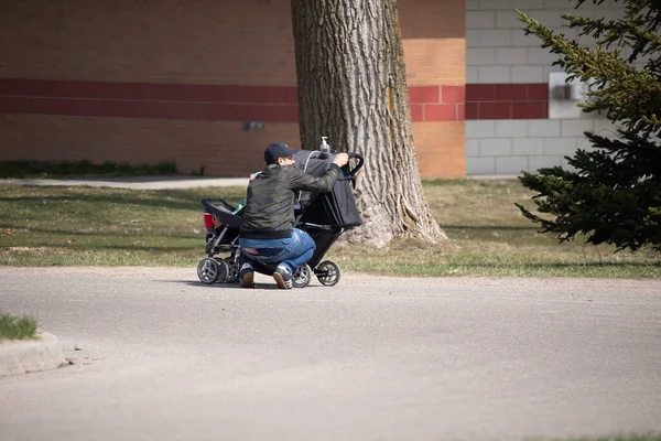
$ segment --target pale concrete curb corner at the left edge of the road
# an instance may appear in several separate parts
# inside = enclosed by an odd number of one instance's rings
[[[0,343],[0,377],[54,369],[65,363],[62,343],[47,332],[40,340]]]

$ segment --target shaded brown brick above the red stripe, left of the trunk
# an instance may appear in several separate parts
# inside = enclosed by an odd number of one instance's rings
[[[296,84],[289,0],[6,0],[0,78]]]

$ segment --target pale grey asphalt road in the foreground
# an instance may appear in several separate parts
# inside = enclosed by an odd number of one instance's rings
[[[661,432],[661,282],[0,268],[73,366],[0,378],[0,439],[522,440]],[[82,351],[73,351],[80,345]]]

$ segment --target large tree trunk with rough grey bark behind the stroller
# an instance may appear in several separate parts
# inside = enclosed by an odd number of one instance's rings
[[[349,240],[447,238],[422,192],[395,0],[292,0],[301,141],[365,158]]]

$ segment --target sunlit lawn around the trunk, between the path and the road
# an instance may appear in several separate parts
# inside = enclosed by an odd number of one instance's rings
[[[517,180],[423,183],[451,240],[395,240],[384,249],[334,245],[344,270],[398,276],[659,278],[650,250],[614,252],[537,233],[514,202],[531,206]],[[204,257],[201,197],[237,203],[243,187],[123,190],[0,184],[0,265],[175,266]]]

